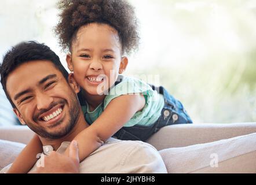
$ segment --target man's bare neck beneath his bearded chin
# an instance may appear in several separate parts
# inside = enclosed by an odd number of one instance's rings
[[[51,145],[54,150],[57,150],[58,147],[60,147],[62,142],[64,142],[64,141],[71,142],[75,138],[76,135],[78,135],[81,131],[83,131],[83,129],[85,129],[87,127],[89,127],[89,124],[86,123],[85,118],[83,117],[82,110],[81,110],[74,128],[67,135],[63,136],[63,138],[47,139],[47,138],[42,138],[41,136],[39,136],[39,138],[41,139],[43,146]]]

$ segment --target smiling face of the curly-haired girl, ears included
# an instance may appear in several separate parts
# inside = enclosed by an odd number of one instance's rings
[[[67,64],[76,82],[90,95],[102,95],[125,71],[118,32],[107,24],[91,23],[78,29]]]

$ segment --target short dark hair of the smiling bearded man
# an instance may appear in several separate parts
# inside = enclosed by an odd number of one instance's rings
[[[47,60],[53,62],[54,66],[56,66],[65,79],[68,80],[68,72],[61,64],[60,58],[50,49],[50,47],[35,41],[21,42],[18,45],[13,46],[12,49],[3,56],[3,62],[0,65],[3,91],[5,91],[6,97],[9,99],[13,108],[16,108],[16,106],[6,90],[6,80],[8,75],[19,65],[35,60]]]

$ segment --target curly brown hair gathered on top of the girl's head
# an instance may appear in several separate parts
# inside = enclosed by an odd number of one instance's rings
[[[125,0],[61,0],[60,21],[55,32],[64,51],[71,51],[78,29],[90,23],[105,23],[118,31],[122,53],[138,49],[138,23],[134,8]]]

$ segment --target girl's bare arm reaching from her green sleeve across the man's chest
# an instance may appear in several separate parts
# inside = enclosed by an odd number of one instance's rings
[[[104,112],[90,127],[74,139],[78,142],[79,160],[82,161],[102,145],[101,141],[114,135],[134,114],[145,106],[143,95],[122,95],[109,102]],[[65,151],[68,155],[69,148]]]

